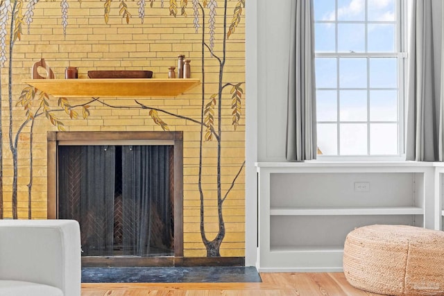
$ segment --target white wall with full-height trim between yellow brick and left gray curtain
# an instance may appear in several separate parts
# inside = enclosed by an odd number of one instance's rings
[[[257,174],[255,162],[285,161],[289,3],[246,3],[246,265],[255,265]],[[284,115],[283,115],[284,114]]]

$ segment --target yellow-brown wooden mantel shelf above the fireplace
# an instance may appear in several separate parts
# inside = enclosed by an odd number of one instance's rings
[[[54,97],[174,97],[200,84],[193,78],[29,79],[24,83]]]

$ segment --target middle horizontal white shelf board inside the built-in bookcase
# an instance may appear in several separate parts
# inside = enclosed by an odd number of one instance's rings
[[[423,215],[420,207],[271,208],[271,216]],[[444,215],[444,211],[443,211]]]

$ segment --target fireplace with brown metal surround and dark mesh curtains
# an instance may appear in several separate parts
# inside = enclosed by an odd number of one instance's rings
[[[183,256],[182,147],[182,132],[48,133],[48,218],[78,220],[83,265]]]

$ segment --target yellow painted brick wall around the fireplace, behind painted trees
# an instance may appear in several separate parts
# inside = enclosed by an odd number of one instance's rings
[[[161,7],[160,0],[146,1],[143,24],[137,17],[137,1],[127,1],[133,15],[129,24],[119,16],[119,1],[111,2],[108,24],[104,19],[104,1],[69,1],[68,25],[63,34],[60,1],[40,1],[35,5],[33,21],[28,28],[24,24],[21,40],[17,40],[12,53],[12,137],[26,120],[22,105],[16,106],[19,96],[26,87],[23,79],[31,78],[31,67],[44,58],[53,69],[56,78],[64,78],[65,67],[79,68],[79,78],[87,78],[87,71],[96,69],[149,69],[155,78],[167,78],[169,66],[176,66],[177,55],[183,53],[191,59],[191,77],[202,78],[201,38],[202,28],[196,33],[193,26],[193,9],[188,1],[187,17],[169,15],[169,1]],[[216,35],[214,53],[223,53],[223,6],[225,1],[216,1]],[[24,3],[23,13],[26,12]],[[178,4],[180,1],[178,1]],[[200,1],[203,3],[203,1]],[[239,1],[227,1],[227,29]],[[207,8],[205,10],[205,42],[209,42]],[[202,15],[200,14],[200,26]],[[244,11],[234,34],[226,46],[226,63],[223,82],[239,83],[245,89]],[[8,24],[8,26],[10,26]],[[8,27],[7,26],[7,27]],[[8,32],[9,35],[9,32]],[[9,43],[9,38],[7,40]],[[3,205],[4,216],[11,214],[12,156],[9,149],[8,112],[8,61],[1,69],[2,129],[3,129]],[[219,64],[205,49],[205,101],[218,90]],[[222,189],[227,191],[245,158],[244,115],[234,131],[232,126],[231,87],[224,90],[222,116]],[[246,94],[242,98],[244,110]],[[137,98],[151,107],[167,110],[174,114],[188,116],[200,121],[201,88],[195,87],[177,98]],[[58,98],[50,98],[50,107],[60,110]],[[80,105],[88,98],[71,98],[69,104]],[[105,103],[115,106],[137,106],[133,98],[105,98]],[[37,103],[34,103],[37,104]],[[148,110],[125,110],[105,107],[98,103],[89,104],[90,116],[83,119],[77,109],[77,119],[70,119],[64,112],[54,111],[67,131],[137,131],[162,130],[148,116]],[[36,110],[38,105],[33,105]],[[206,256],[199,231],[198,194],[198,147],[200,127],[190,121],[160,113],[170,130],[184,131],[184,243],[185,256]],[[215,122],[217,124],[217,121]],[[45,116],[35,119],[33,127],[33,183],[32,216],[46,218],[46,132],[57,130]],[[28,217],[28,183],[30,176],[30,124],[19,134],[18,149],[18,214]],[[217,232],[216,203],[216,141],[205,142],[203,153],[203,189],[205,189],[205,227],[207,238],[212,240]],[[241,172],[234,188],[223,204],[226,236],[221,246],[221,256],[244,256],[244,171]]]

